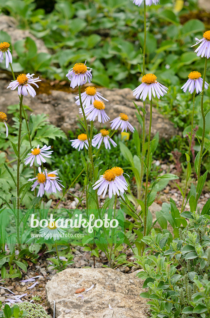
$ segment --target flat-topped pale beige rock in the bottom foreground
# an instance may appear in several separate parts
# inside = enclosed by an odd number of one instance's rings
[[[139,296],[142,281],[136,273],[124,274],[114,269],[66,269],[46,284],[46,297],[56,318],[146,318],[148,300]],[[75,294],[78,288],[94,288]],[[109,309],[110,306],[113,309]]]

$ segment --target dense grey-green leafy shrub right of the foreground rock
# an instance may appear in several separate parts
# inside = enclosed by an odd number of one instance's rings
[[[152,317],[210,317],[210,217],[199,208],[186,213],[189,223],[180,238],[168,243],[168,233],[153,229],[142,239],[149,247],[136,256],[144,269],[137,276],[148,287],[140,295],[150,299]]]

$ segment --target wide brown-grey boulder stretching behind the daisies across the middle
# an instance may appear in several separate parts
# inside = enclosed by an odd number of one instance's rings
[[[6,107],[9,105],[18,103],[18,96],[16,91],[11,91],[6,89],[9,81],[0,81],[0,111],[6,111]],[[44,83],[38,85],[44,85]],[[109,100],[106,102],[106,113],[110,117],[110,120],[113,120],[120,113],[125,113],[129,116],[129,122],[136,127],[140,128],[139,123],[136,117],[136,108],[134,106],[132,90],[130,88],[123,89],[107,89],[107,88],[97,88],[97,90],[103,94],[105,98]],[[31,96],[24,97],[24,104],[28,105],[33,109],[34,114],[48,114],[49,121],[54,125],[60,127],[66,133],[69,130],[75,131],[78,128],[77,119],[81,118],[79,114],[79,107],[75,104],[75,93],[67,93],[62,91],[52,90],[50,95],[47,94],[38,94],[32,98]],[[69,88],[70,92],[70,88]],[[136,105],[143,106],[141,101],[135,100]],[[148,132],[149,127],[149,105],[146,105],[146,130]],[[109,122],[105,125],[100,124],[97,120],[94,122],[94,125],[97,128],[110,128]],[[153,120],[152,120],[152,137],[159,131],[160,137],[165,139],[170,138],[173,135],[179,134],[177,128],[174,128],[172,122],[164,118],[154,107],[153,108]]]

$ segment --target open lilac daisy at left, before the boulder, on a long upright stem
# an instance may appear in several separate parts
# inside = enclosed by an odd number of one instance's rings
[[[41,79],[39,79],[39,76],[36,79],[33,79],[34,74],[20,74],[18,75],[17,79],[10,83],[10,85],[7,88],[10,88],[12,91],[17,88],[18,95],[27,96],[28,92],[32,97],[35,97],[36,92],[34,88],[31,86],[31,84],[36,85],[36,87],[39,87],[36,82],[40,82]]]

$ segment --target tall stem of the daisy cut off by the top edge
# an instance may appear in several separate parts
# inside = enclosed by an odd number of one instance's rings
[[[146,25],[146,0],[144,0],[144,47],[143,47],[143,75],[145,75],[145,56],[146,56],[146,39],[147,39],[147,25]],[[143,108],[145,110],[146,101],[143,101]],[[142,127],[142,148],[141,152],[143,155],[143,149],[145,144],[145,112],[143,112],[143,127]],[[142,156],[142,160],[144,160],[144,156]],[[138,189],[138,199],[141,198],[141,191],[142,191],[142,183],[143,183],[143,173],[144,172],[144,165],[141,162],[141,173],[140,173],[140,189]]]

